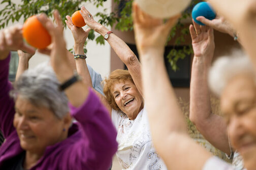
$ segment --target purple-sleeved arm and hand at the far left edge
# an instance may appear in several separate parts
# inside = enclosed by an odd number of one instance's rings
[[[24,44],[21,28],[21,25],[16,25],[0,31],[0,129],[5,138],[15,130],[13,126],[14,101],[9,95],[12,84],[8,81],[10,51],[22,49],[31,53],[35,52],[33,48]]]

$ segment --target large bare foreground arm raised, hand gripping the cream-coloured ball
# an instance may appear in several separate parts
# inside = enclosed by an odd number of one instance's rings
[[[202,169],[211,154],[186,134],[184,117],[163,57],[168,33],[178,16],[164,24],[162,19],[153,19],[143,13],[137,4],[134,4],[133,10],[136,44],[142,61],[145,104],[154,147],[168,169]]]

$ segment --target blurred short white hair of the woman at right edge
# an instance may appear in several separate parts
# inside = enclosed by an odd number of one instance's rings
[[[252,74],[256,80],[251,61],[245,54],[235,50],[231,57],[220,57],[209,70],[208,83],[211,91],[220,96],[229,80],[240,73]]]

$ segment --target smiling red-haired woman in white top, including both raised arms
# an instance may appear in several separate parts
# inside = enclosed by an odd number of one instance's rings
[[[114,33],[97,23],[84,7],[81,14],[85,23],[107,40],[128,70],[115,70],[105,80],[102,101],[109,108],[112,122],[117,130],[117,159],[123,169],[167,169],[162,159],[156,153],[149,130],[147,112],[144,108],[141,87],[141,64],[131,49]],[[71,17],[67,16],[67,26],[71,29],[76,55],[84,55],[81,41],[88,30],[82,30],[73,25]],[[84,36],[83,36],[84,35]],[[86,39],[86,38],[85,38]],[[79,43],[78,43],[79,42]],[[76,58],[77,71],[83,73],[84,79],[89,79],[85,60]]]

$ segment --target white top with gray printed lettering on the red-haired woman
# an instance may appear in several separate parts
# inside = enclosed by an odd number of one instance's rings
[[[112,122],[117,130],[116,156],[123,169],[167,169],[153,147],[145,108],[134,120],[112,109]]]

